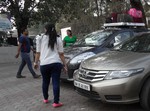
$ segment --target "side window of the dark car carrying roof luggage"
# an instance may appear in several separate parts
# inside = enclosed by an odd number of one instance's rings
[[[114,46],[120,44],[121,42],[129,39],[131,37],[131,33],[130,32],[122,32],[122,33],[119,33],[117,34],[115,37],[114,37]]]

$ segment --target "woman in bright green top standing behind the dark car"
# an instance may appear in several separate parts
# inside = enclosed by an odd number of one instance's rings
[[[67,36],[64,38],[64,46],[69,47],[76,42],[76,36],[72,35],[71,30],[67,30]]]

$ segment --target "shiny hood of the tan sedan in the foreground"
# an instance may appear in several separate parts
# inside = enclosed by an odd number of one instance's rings
[[[107,51],[82,62],[82,67],[91,70],[125,70],[143,68],[150,64],[150,53]]]

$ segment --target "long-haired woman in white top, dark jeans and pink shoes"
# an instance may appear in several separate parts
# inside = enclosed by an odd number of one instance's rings
[[[62,67],[67,71],[67,66],[64,59],[62,40],[57,36],[53,24],[47,24],[45,26],[45,34],[37,38],[36,44],[34,68],[38,68],[38,62],[40,60],[40,71],[43,78],[43,102],[48,103],[48,88],[50,78],[52,77],[54,94],[54,103],[52,105],[53,107],[60,107],[63,105],[59,103],[60,74]]]

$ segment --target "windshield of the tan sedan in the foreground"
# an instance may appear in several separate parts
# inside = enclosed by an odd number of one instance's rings
[[[123,51],[150,52],[150,34],[143,34],[128,40],[119,48]]]

